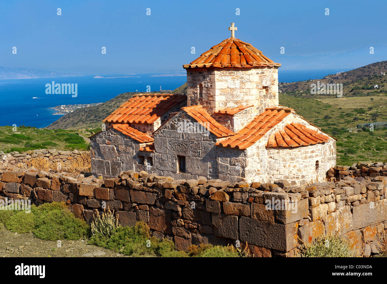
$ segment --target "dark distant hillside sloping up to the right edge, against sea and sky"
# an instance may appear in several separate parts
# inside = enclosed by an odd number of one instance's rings
[[[330,74],[318,80],[305,80],[292,83],[279,83],[279,91],[289,95],[303,95],[307,97],[336,97],[335,94],[310,94],[311,84],[330,83],[343,84],[344,97],[363,97],[377,94],[387,94],[387,77],[380,75],[381,72],[387,71],[387,61],[381,61],[356,68],[339,74]],[[379,88],[374,89],[373,85]]]

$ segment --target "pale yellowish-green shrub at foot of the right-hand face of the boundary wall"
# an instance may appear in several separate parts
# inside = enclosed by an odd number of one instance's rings
[[[348,242],[339,236],[320,236],[313,244],[306,244],[302,257],[353,257]]]

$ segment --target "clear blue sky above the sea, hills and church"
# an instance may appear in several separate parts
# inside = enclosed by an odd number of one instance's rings
[[[183,64],[230,37],[235,22],[235,37],[283,70],[344,71],[386,60],[386,10],[382,0],[0,0],[0,66],[77,74],[184,72]]]

